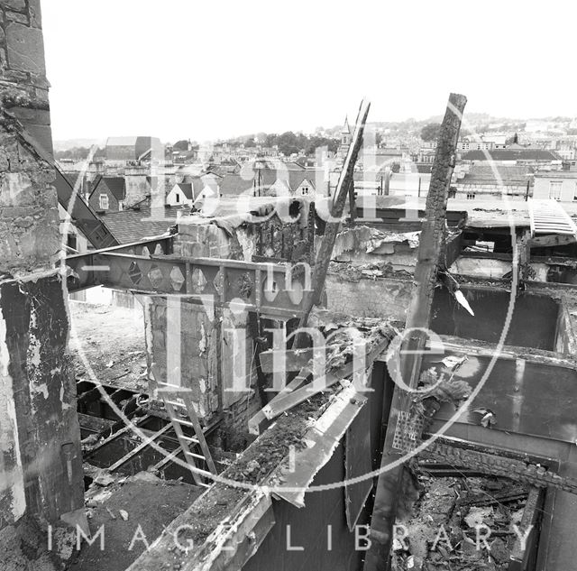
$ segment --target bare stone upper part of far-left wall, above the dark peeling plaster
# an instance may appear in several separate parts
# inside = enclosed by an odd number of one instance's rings
[[[51,154],[48,88],[40,0],[1,0],[0,272],[13,275],[52,267],[60,250],[54,170],[19,139],[13,118]]]

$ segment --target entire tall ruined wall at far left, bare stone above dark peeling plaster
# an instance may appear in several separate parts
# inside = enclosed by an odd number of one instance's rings
[[[39,0],[0,5],[0,527],[82,512],[76,390],[55,175],[16,132],[52,151]],[[69,514],[67,516],[66,514]],[[81,519],[80,519],[81,520]],[[0,546],[0,566],[5,568]]]

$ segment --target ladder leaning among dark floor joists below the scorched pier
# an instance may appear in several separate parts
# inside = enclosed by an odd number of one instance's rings
[[[192,399],[187,394],[187,390],[178,385],[158,381],[156,384],[158,386],[157,392],[159,398],[164,402],[164,408],[169,414],[170,422],[176,432],[180,445],[179,448],[165,458],[162,464],[168,463],[182,450],[195,483],[206,488],[210,487],[210,484],[206,484],[206,480],[212,482],[214,479],[212,476],[217,474],[215,462],[206,444],[205,433],[200,426],[200,421],[198,420]],[[182,402],[179,402],[179,400]],[[179,410],[186,410],[187,418],[183,418],[179,414]],[[193,428],[196,437],[188,437],[182,430],[183,426]],[[194,446],[200,447],[202,455],[192,452],[191,447]],[[209,472],[199,468],[197,461],[205,461]]]

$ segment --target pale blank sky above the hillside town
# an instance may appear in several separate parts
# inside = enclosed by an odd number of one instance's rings
[[[41,0],[53,137],[174,143],[354,118],[577,115],[577,3]]]

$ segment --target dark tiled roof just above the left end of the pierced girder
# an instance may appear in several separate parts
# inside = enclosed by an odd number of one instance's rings
[[[151,219],[151,201],[146,198],[135,207],[109,212],[101,217],[120,244],[130,244],[149,236],[164,234],[176,223],[179,211],[188,214],[190,207],[164,207],[161,213],[164,217],[156,213],[156,219]]]

